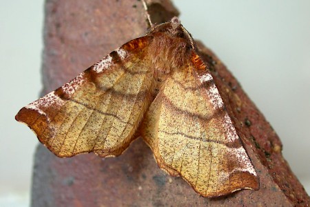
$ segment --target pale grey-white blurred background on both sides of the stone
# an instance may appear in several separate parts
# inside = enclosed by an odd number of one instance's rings
[[[175,1],[276,130],[310,193],[310,1]],[[39,96],[43,0],[0,0],[0,206],[28,206],[37,138],[14,121]]]

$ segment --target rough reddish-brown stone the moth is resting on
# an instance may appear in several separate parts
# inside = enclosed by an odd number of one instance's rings
[[[154,21],[178,14],[169,1],[149,8]],[[147,30],[141,1],[50,0],[45,3],[43,93],[54,90]],[[189,31],[190,32],[190,31]],[[183,179],[160,170],[141,139],[123,155],[60,159],[37,148],[32,206],[307,206],[309,196],[281,154],[280,139],[223,63],[202,44],[216,85],[260,177],[260,190],[200,197]]]

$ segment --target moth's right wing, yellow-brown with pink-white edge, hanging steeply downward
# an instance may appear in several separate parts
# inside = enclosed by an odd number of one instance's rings
[[[257,189],[256,171],[213,78],[203,63],[194,63],[167,78],[143,119],[143,139],[163,170],[204,197]]]

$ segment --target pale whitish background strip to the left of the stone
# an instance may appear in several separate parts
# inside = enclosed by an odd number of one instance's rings
[[[14,116],[41,90],[43,0],[0,0],[0,206],[28,206],[38,141]]]

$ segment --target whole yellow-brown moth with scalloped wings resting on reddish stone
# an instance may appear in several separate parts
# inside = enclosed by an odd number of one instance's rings
[[[259,186],[214,79],[177,17],[21,108],[16,119],[58,157],[115,157],[143,137],[158,166],[203,197]]]

